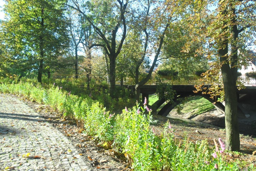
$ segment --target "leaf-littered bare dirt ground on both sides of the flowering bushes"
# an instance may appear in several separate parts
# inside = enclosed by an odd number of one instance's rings
[[[23,99],[24,100],[24,99]],[[52,122],[52,125],[56,126],[61,132],[66,134],[69,140],[77,147],[78,152],[86,155],[88,158],[87,163],[92,166],[91,170],[130,170],[131,167],[126,163],[126,159],[122,155],[115,154],[112,149],[104,149],[102,146],[85,134],[81,133],[76,127],[76,123],[71,121],[63,121],[57,113],[51,111],[49,107],[45,105],[38,105],[31,101],[26,101],[29,107],[33,108],[37,113],[44,116]],[[182,117],[182,116],[179,116]],[[157,134],[161,134],[166,122],[170,122],[172,128],[175,130],[174,134],[178,138],[189,137],[191,141],[206,139],[209,145],[213,146],[213,139],[225,140],[225,130],[221,128],[224,122],[223,118],[215,117],[211,113],[206,113],[201,116],[194,118],[201,122],[207,122],[214,125],[204,124],[204,123],[192,123],[186,122],[179,119],[172,119],[167,117],[162,117],[158,115],[153,116],[154,120],[157,120],[157,124],[152,125]],[[223,125],[222,125],[223,126]],[[252,152],[256,150],[256,138],[252,134],[240,135],[241,143],[241,153],[222,153],[224,159],[231,162],[233,161],[246,161],[248,163],[254,163],[256,167],[256,156],[252,155]]]

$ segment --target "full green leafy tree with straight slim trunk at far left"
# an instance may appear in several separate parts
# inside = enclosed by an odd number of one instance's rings
[[[42,82],[44,66],[48,66],[46,70],[53,67],[68,43],[60,2],[11,0],[4,8],[8,17],[2,28],[7,49],[16,59],[28,61],[32,69],[38,70],[38,82]]]

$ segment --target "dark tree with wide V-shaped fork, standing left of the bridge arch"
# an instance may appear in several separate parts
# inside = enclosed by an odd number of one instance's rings
[[[79,11],[99,36],[99,42],[93,43],[90,48],[95,46],[103,47],[105,53],[108,55],[109,93],[114,98],[116,58],[121,51],[126,36],[125,13],[128,1],[87,1],[85,4],[73,1],[73,3],[74,6],[66,5]],[[86,6],[86,8],[82,8],[81,6]],[[118,38],[120,39],[117,41]]]

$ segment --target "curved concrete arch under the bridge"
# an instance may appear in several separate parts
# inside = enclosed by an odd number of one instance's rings
[[[205,98],[206,100],[208,100],[209,102],[211,102],[214,105],[214,107],[218,110],[218,113],[220,115],[225,113],[225,106],[221,102],[215,103],[215,101],[213,99],[211,99],[209,96],[203,95],[201,93],[183,93],[182,95],[179,95],[178,98],[185,98],[185,97],[196,96],[196,95],[199,95],[199,96]],[[179,101],[178,98],[175,98],[175,100],[174,100],[175,104],[167,103],[157,114],[161,115],[161,116],[167,116],[171,112],[171,110],[174,109],[181,102],[181,101]],[[157,109],[163,103],[165,103],[165,100],[163,100],[163,99],[156,101],[152,105],[153,110],[157,111]]]

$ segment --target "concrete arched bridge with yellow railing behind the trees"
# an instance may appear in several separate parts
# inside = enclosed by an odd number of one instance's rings
[[[58,75],[58,74],[53,74],[53,79],[60,79],[60,80],[74,80],[75,75]],[[100,82],[108,82],[108,76],[102,75],[91,75],[91,78],[95,80],[96,83]],[[80,80],[86,80],[86,75],[79,75],[78,79]],[[209,88],[211,86],[210,83],[206,83],[204,81],[204,77],[202,76],[187,76],[184,78],[179,78],[179,77],[172,77],[172,76],[160,76],[160,80],[162,83],[166,83],[169,85],[172,85],[172,89],[176,91],[175,95],[175,105],[180,103],[180,99],[188,96],[195,96],[199,95],[202,96],[203,98],[206,98],[208,101],[210,101],[215,108],[218,110],[218,113],[220,115],[224,115],[225,111],[225,106],[221,102],[217,102],[216,99],[211,99],[209,95],[203,95],[201,92],[199,93],[194,93],[196,88],[194,85],[202,85],[206,88]],[[220,78],[217,82],[214,83],[214,85],[221,85],[222,84],[222,79]],[[245,85],[244,89],[238,90],[237,89],[237,97],[238,97],[238,102],[239,99],[245,98],[246,95],[256,95],[256,80],[253,78],[247,78],[245,76],[240,76],[238,78],[239,82],[242,82],[243,85]],[[123,80],[116,79],[116,85],[120,85],[122,82],[123,86],[126,86],[131,89],[131,91],[134,91],[135,89],[135,82],[133,78],[126,77],[123,78]],[[149,95],[154,94],[157,89],[157,85],[159,84],[159,77],[152,75],[151,79],[140,88],[140,92],[142,93],[142,101],[144,101],[145,97],[148,99]],[[255,96],[254,96],[255,97]],[[152,110],[155,112],[157,109],[162,106],[165,103],[164,99],[159,99],[156,101],[152,106]],[[167,116],[169,112],[175,107],[174,104],[171,103],[166,103],[166,105],[157,113],[162,116]],[[239,110],[242,111],[243,115],[241,117],[248,117],[248,114],[246,112],[246,109],[242,107],[241,104],[238,103],[238,108]]]

